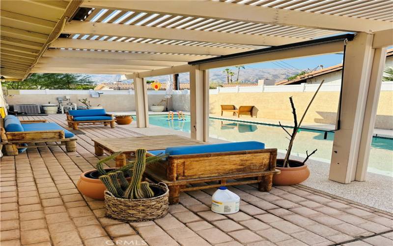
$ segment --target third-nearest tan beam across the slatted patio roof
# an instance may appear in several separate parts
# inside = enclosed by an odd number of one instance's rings
[[[229,55],[249,49],[234,49],[206,46],[186,46],[171,44],[151,44],[133,42],[113,42],[73,38],[58,38],[50,47],[52,48],[72,48],[72,49],[94,49],[94,50],[116,50],[116,51],[142,51],[142,52],[162,52],[195,55]]]

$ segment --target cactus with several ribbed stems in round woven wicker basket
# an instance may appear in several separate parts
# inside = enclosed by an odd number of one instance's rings
[[[136,162],[126,171],[117,170],[100,176],[105,185],[107,216],[122,221],[147,221],[168,214],[168,186],[142,181],[146,168],[146,150],[136,151]],[[130,174],[130,183],[125,173]]]

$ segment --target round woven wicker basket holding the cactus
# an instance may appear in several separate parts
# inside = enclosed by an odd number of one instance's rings
[[[150,184],[153,189],[161,190],[163,194],[145,199],[128,200],[117,198],[108,190],[105,191],[105,207],[107,216],[122,221],[148,221],[162,218],[169,211],[169,189],[167,184]]]

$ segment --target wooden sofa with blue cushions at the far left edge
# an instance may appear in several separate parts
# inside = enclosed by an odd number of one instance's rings
[[[19,121],[17,117],[7,115],[1,119],[0,134],[6,155],[18,155],[27,148],[65,145],[67,152],[75,152],[77,148],[77,139],[72,132],[56,123],[47,123],[46,120]],[[30,143],[49,142],[52,144],[28,146]]]

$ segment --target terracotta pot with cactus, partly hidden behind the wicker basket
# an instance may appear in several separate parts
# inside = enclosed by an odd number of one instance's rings
[[[99,179],[101,175],[108,175],[116,171],[122,171],[124,172],[124,176],[126,177],[126,179],[130,180],[129,170],[133,168],[135,161],[130,161],[129,163],[127,163],[127,165],[121,168],[103,168],[103,164],[105,162],[111,161],[119,154],[121,154],[121,152],[112,154],[111,156],[101,159],[97,162],[96,169],[82,173],[77,184],[79,191],[81,191],[81,193],[87,197],[96,200],[104,200],[104,191],[106,187]],[[156,162],[165,157],[166,155],[164,154],[149,156],[146,158],[146,164]]]

